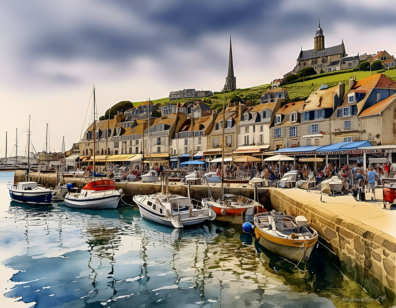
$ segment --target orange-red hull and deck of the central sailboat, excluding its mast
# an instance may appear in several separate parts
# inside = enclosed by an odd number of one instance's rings
[[[210,207],[215,211],[216,215],[238,215],[246,213],[246,209],[254,207],[255,212],[265,211],[263,205],[243,196],[236,196],[232,194],[224,194],[224,198],[219,198],[213,201],[212,198],[202,199],[204,207]]]

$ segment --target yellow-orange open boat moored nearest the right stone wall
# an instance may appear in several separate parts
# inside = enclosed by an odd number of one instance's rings
[[[260,244],[285,259],[307,262],[318,240],[318,233],[307,225],[304,216],[271,211],[254,216],[256,239]]]

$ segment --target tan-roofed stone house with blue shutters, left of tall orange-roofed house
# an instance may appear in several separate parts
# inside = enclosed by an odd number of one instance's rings
[[[345,84],[328,89],[322,87],[312,92],[301,108],[301,146],[331,144],[330,117],[344,97]]]

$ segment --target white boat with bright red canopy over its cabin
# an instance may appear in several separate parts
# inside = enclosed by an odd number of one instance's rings
[[[91,180],[79,193],[69,191],[65,203],[78,209],[115,209],[122,196],[124,192],[116,190],[114,180],[99,178]]]

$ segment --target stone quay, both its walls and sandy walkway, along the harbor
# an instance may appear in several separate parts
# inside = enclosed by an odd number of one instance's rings
[[[31,173],[31,181],[46,187],[56,184],[55,173]],[[15,182],[25,179],[24,171],[15,172]],[[89,179],[65,178],[82,188]],[[251,186],[225,188],[225,193],[254,196]],[[125,202],[132,203],[135,194],[154,194],[161,190],[160,183],[116,183],[116,188],[124,190]],[[183,196],[188,195],[187,186],[170,183],[169,191]],[[219,185],[210,186],[211,195],[217,199]],[[195,200],[208,197],[208,186],[190,187],[190,196]],[[373,194],[366,194],[370,199]],[[304,215],[308,224],[322,237],[321,243],[335,253],[335,264],[343,273],[356,280],[374,299],[381,300],[383,307],[396,305],[396,211],[382,209],[382,190],[376,190],[380,200],[358,202],[352,196],[330,197],[320,192],[307,192],[302,189],[259,188],[258,200],[267,210],[285,212],[287,215]],[[320,244],[321,245],[321,244]],[[327,249],[324,249],[327,251]],[[311,260],[312,262],[312,260]]]

